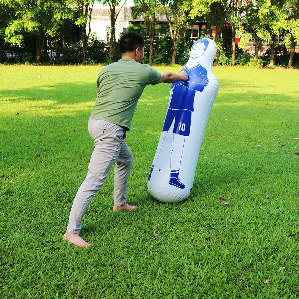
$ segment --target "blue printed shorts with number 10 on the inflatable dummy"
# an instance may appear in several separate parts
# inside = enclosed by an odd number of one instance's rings
[[[192,112],[190,110],[168,109],[162,131],[169,131],[171,124],[173,123],[173,119],[175,119],[173,133],[183,136],[189,136],[191,126],[191,114]]]

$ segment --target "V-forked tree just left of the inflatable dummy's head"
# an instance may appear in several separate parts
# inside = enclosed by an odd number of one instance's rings
[[[177,47],[181,40],[183,29],[187,23],[187,12],[191,8],[190,0],[161,0],[162,11],[165,13],[173,43],[171,63],[176,63]]]

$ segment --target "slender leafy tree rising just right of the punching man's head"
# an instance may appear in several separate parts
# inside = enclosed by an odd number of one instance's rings
[[[134,0],[132,7],[133,19],[138,19],[140,15],[144,17],[144,23],[149,36],[149,64],[152,63],[156,13],[158,12],[157,0]]]

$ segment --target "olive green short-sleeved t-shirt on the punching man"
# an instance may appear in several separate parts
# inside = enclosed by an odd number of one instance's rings
[[[97,99],[90,118],[130,129],[139,97],[145,86],[155,85],[161,74],[148,64],[130,58],[103,67],[97,76]]]

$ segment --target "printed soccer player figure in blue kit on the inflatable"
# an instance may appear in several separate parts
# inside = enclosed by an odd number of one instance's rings
[[[166,118],[162,132],[168,132],[173,120],[173,149],[170,155],[170,180],[168,184],[180,189],[184,189],[185,184],[179,179],[179,171],[181,168],[181,158],[183,155],[185,138],[190,135],[191,115],[194,111],[193,102],[196,91],[202,92],[208,85],[207,70],[199,64],[199,57],[204,54],[208,48],[208,39],[197,40],[190,53],[190,58],[182,71],[188,74],[187,82],[176,82],[171,86],[170,104],[167,109]],[[166,133],[167,134],[167,133]],[[164,139],[165,140],[165,139]],[[154,161],[149,172],[150,181],[152,171],[159,158],[163,142],[160,146],[160,151],[156,152]]]

